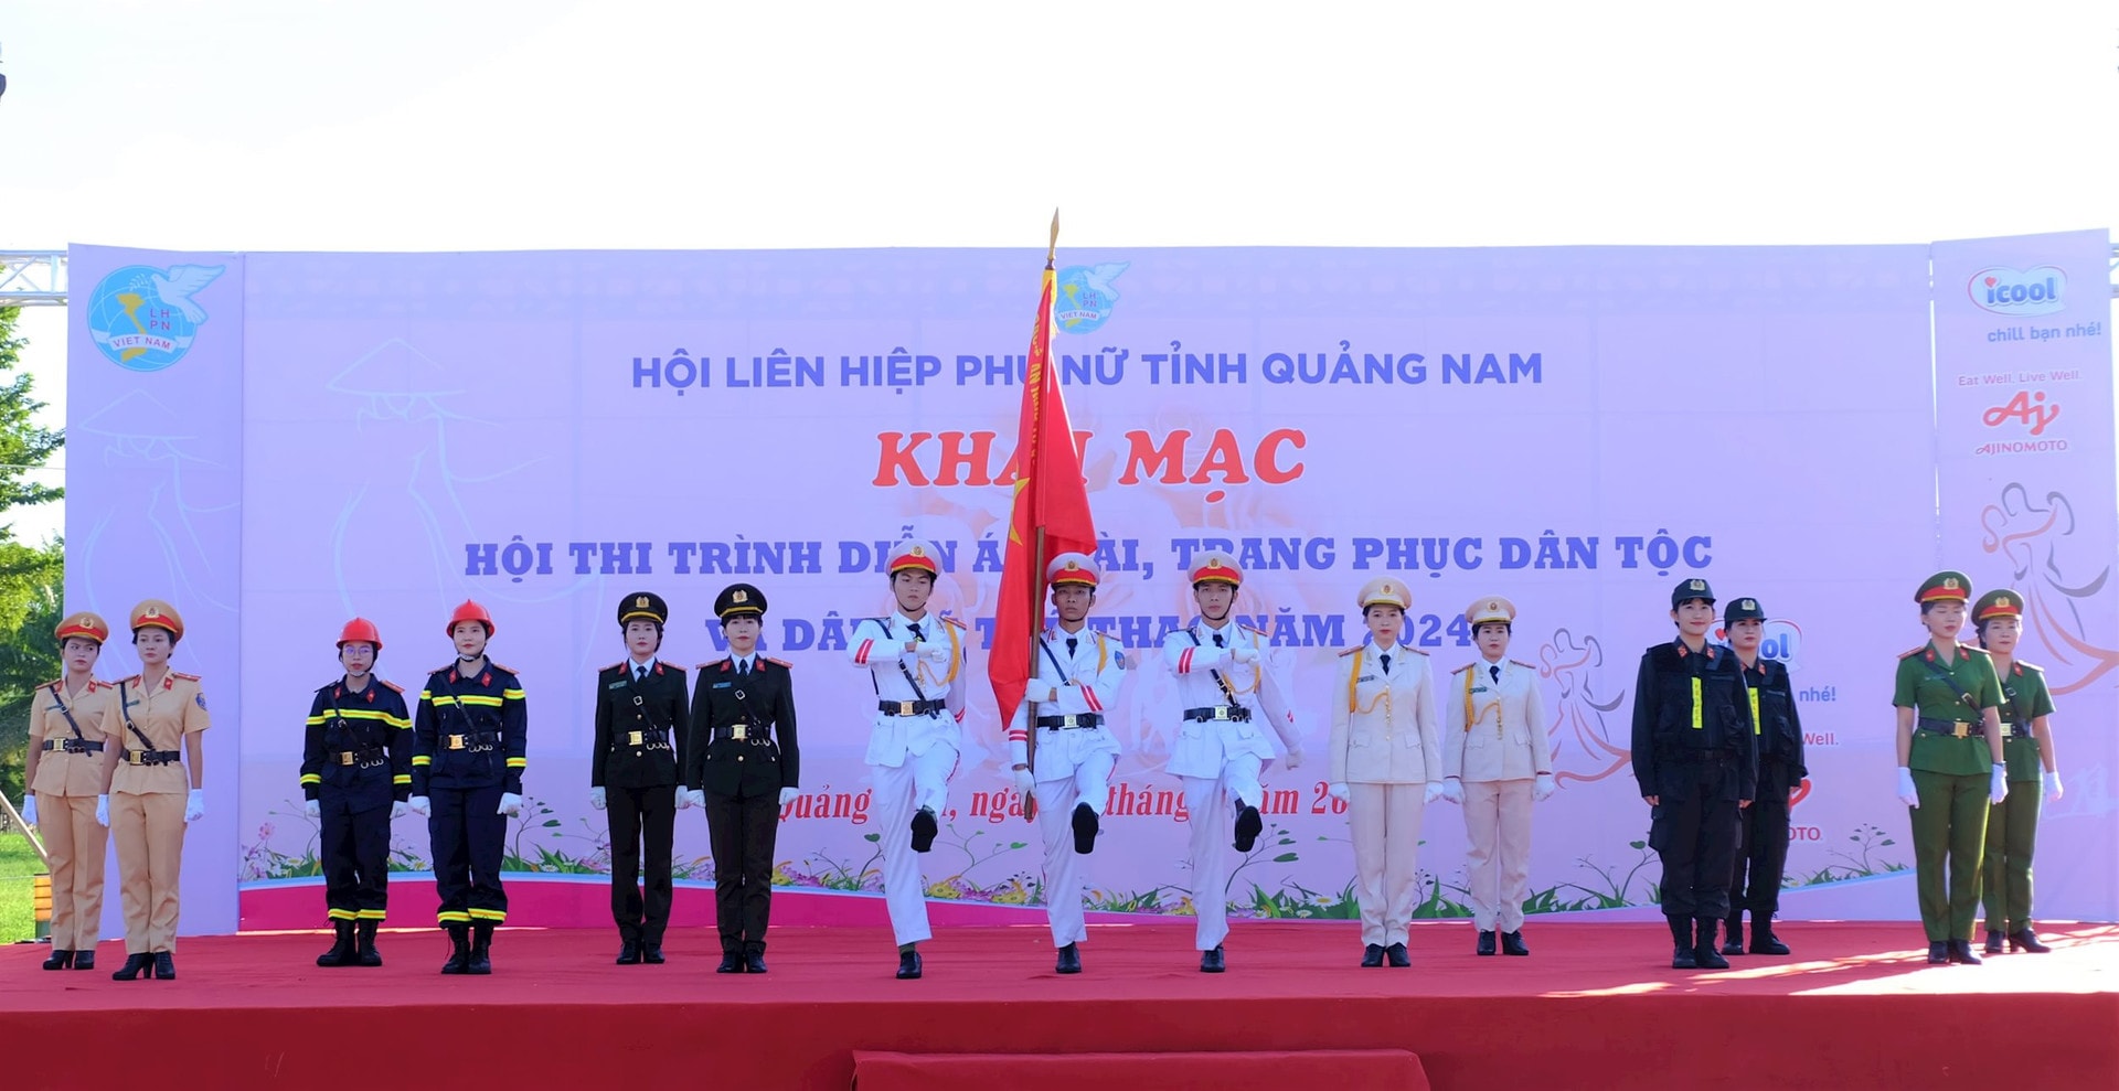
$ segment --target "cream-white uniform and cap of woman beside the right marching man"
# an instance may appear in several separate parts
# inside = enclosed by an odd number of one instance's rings
[[[1360,608],[1411,597],[1399,580],[1371,580]],[[1441,794],[1443,739],[1428,652],[1363,644],[1339,652],[1331,691],[1331,784],[1348,786],[1360,943],[1405,943],[1418,905],[1420,822],[1428,788]],[[1394,962],[1403,951],[1392,951]]]

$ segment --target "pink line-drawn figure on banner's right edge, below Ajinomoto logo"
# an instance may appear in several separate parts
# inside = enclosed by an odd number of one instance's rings
[[[2096,576],[2068,583],[2070,570],[2081,572],[2081,557],[2066,555],[2075,525],[2075,504],[2064,494],[2049,491],[2038,504],[2030,489],[2013,481],[2000,489],[2000,500],[1979,513],[1979,527],[1986,530],[1979,544],[2009,561],[2009,580],[2024,595],[2024,629],[2047,650],[2041,665],[2051,674],[2062,674],[2053,665],[2066,667],[2070,676],[2051,682],[2055,697],[2119,667],[2119,648],[2098,644],[2081,610],[2081,604],[2106,593],[2111,559],[2104,557]]]

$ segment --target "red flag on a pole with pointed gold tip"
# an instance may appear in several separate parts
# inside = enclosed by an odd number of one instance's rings
[[[1057,244],[1060,214],[1053,212],[1053,248]],[[1045,292],[1030,333],[1030,371],[1023,375],[1023,411],[1015,439],[1015,508],[1000,564],[1000,608],[994,614],[994,648],[985,661],[1002,725],[1015,718],[1015,708],[1036,676],[1032,655],[1045,623],[1045,566],[1060,553],[1096,553],[1081,447],[1074,445],[1051,358],[1053,284],[1053,250],[1047,250]]]

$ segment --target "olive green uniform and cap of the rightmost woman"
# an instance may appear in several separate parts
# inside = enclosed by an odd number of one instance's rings
[[[2024,616],[2024,600],[2015,591],[1988,591],[1973,608],[1973,621]],[[2038,792],[2043,761],[2030,722],[2053,714],[2053,695],[2045,688],[2045,669],[2015,661],[2000,678],[2000,752],[2009,765],[2009,799],[1988,811],[1986,892],[1988,951],[2000,953],[2007,934],[2013,947],[2045,951],[2030,930],[2030,854],[2038,841]],[[2028,941],[2028,943],[2026,943]]]

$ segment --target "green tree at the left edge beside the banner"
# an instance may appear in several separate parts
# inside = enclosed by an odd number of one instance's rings
[[[30,737],[30,699],[40,682],[59,676],[51,631],[59,625],[66,587],[61,540],[15,540],[11,508],[47,504],[66,496],[42,485],[38,470],[66,445],[66,436],[38,428],[32,417],[44,403],[32,396],[34,379],[15,366],[23,339],[15,337],[15,307],[0,309],[0,792],[21,799],[21,767]]]

